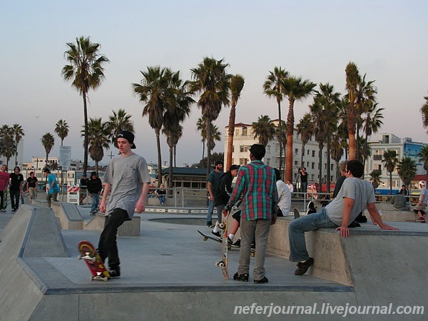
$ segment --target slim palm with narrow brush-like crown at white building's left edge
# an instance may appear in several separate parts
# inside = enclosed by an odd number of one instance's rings
[[[230,78],[230,93],[232,96],[232,104],[230,106],[229,114],[229,126],[228,126],[228,151],[226,152],[226,170],[229,170],[232,165],[232,153],[233,153],[233,135],[235,134],[235,116],[236,116],[236,104],[240,98],[240,93],[244,88],[244,77],[241,75],[235,75]]]

